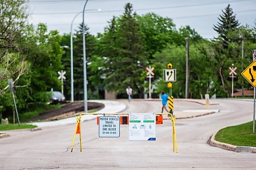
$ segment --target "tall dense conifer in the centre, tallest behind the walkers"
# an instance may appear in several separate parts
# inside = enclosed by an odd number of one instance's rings
[[[144,90],[144,69],[147,56],[144,50],[143,34],[132,13],[130,3],[124,7],[124,13],[119,18],[113,18],[102,39],[101,58],[105,61],[99,72],[104,72],[104,85],[108,91],[125,93],[131,86],[142,98]],[[96,64],[95,64],[96,66]],[[94,69],[94,70],[97,70]],[[103,71],[104,70],[104,71]]]

